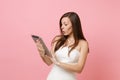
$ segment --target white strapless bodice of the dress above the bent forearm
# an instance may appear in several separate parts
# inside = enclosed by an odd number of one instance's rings
[[[60,48],[56,51],[56,57],[59,61],[64,62],[64,63],[76,63],[79,59],[79,51],[76,49],[73,49],[69,53],[69,48],[68,47],[63,47]],[[69,56],[68,56],[69,54]]]

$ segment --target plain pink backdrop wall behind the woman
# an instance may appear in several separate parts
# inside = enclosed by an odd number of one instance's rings
[[[51,48],[67,11],[79,14],[90,47],[78,80],[120,80],[119,8],[119,0],[0,0],[0,80],[46,79],[52,66],[42,62],[31,34]]]

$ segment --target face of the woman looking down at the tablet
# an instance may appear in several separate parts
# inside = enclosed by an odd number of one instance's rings
[[[61,20],[61,30],[63,35],[71,35],[72,34],[72,23],[68,17],[63,17]]]

